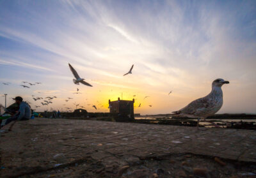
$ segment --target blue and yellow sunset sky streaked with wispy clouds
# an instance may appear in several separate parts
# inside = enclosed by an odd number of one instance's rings
[[[0,0],[0,95],[37,111],[108,112],[120,97],[135,113],[166,114],[223,78],[218,113],[256,113],[255,49],[256,1]],[[75,85],[68,63],[93,87]],[[31,95],[57,98],[43,107]]]

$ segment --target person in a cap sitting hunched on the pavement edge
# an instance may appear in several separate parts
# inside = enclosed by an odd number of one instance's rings
[[[20,96],[17,96],[16,98],[13,98],[13,100],[15,100],[15,103],[19,105],[19,112],[17,115],[7,119],[5,122],[5,125],[16,120],[17,121],[29,120],[31,117],[31,108],[29,107],[28,103],[23,101],[23,98],[21,98]]]

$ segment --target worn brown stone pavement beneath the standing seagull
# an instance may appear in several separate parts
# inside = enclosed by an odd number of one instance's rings
[[[4,129],[0,177],[256,176],[252,130],[68,119]]]

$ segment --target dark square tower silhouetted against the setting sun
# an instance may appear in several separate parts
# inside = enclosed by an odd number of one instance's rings
[[[133,121],[134,120],[134,99],[117,101],[109,100],[109,112],[115,116],[116,121]]]

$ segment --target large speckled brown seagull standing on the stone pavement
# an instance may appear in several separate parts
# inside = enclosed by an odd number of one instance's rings
[[[223,93],[221,86],[223,84],[229,84],[228,81],[222,78],[217,78],[212,82],[212,91],[207,96],[199,98],[189,103],[186,107],[180,110],[174,111],[173,116],[186,116],[191,118],[197,118],[197,129],[199,126],[200,119],[205,119],[214,115],[223,105]],[[210,121],[208,121],[210,122]],[[214,124],[213,122],[211,122]],[[216,124],[214,124],[217,126]]]

